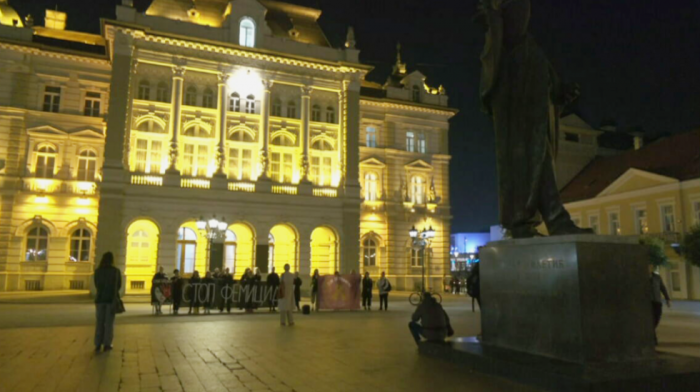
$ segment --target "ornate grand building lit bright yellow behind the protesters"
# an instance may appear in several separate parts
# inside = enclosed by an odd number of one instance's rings
[[[127,293],[157,266],[386,271],[410,289],[419,260],[435,287],[449,273],[455,111],[400,60],[365,82],[352,31],[331,47],[320,11],[125,0],[92,35],[1,3],[0,290],[87,289],[107,251]],[[209,241],[196,221],[213,215]],[[426,255],[414,225],[437,231]]]

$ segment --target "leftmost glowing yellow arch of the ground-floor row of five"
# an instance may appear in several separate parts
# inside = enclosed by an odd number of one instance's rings
[[[151,279],[156,273],[160,230],[155,223],[140,219],[126,230],[126,275],[127,293],[148,293]]]

